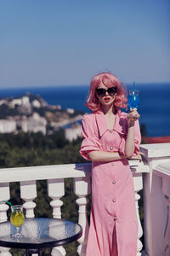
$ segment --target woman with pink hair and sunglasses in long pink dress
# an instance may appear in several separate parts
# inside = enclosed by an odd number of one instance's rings
[[[127,107],[126,90],[111,73],[92,79],[82,117],[80,153],[92,161],[92,210],[86,256],[136,256],[138,222],[127,158],[141,160],[139,113]]]

